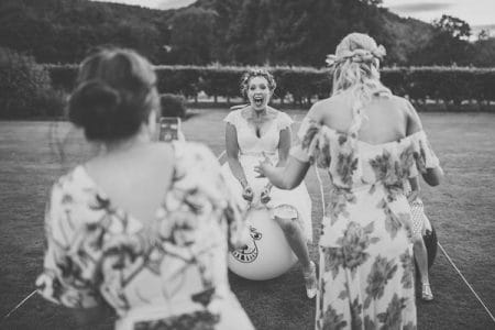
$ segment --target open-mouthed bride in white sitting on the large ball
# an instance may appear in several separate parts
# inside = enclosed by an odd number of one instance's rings
[[[241,79],[241,92],[250,102],[231,111],[224,119],[228,162],[222,170],[229,186],[248,205],[266,205],[274,209],[274,219],[302,266],[306,293],[317,293],[315,263],[310,261],[307,242],[311,241],[311,200],[302,183],[293,190],[273,187],[257,177],[254,167],[260,161],[285,166],[290,150],[293,120],[268,107],[276,84],[264,69],[246,72]],[[290,206],[294,216],[277,213],[277,207]]]

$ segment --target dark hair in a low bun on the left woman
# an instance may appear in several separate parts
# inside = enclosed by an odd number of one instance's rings
[[[80,64],[69,120],[90,141],[130,138],[160,109],[155,84],[152,65],[136,52],[99,50]]]

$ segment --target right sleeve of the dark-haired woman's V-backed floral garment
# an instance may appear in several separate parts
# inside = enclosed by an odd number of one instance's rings
[[[213,153],[202,144],[175,143],[176,157],[182,158],[179,176],[186,178],[175,184],[179,189],[195,187],[211,202],[220,213],[218,219],[227,227],[229,246],[237,249],[246,244],[251,237],[245,223],[245,209],[232,194],[221,173],[220,164]],[[188,155],[185,155],[187,153]],[[188,158],[189,161],[185,161]]]

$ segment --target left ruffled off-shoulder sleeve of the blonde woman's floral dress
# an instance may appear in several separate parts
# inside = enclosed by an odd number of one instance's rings
[[[318,167],[330,165],[330,141],[321,124],[306,117],[297,132],[297,140],[290,150],[293,157],[305,163],[316,163]]]

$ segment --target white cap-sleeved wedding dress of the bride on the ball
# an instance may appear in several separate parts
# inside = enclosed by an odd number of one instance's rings
[[[293,120],[286,113],[274,110],[276,113],[271,127],[258,138],[255,128],[243,117],[242,111],[243,109],[231,111],[223,121],[235,127],[239,144],[239,162],[244,169],[249,185],[254,191],[252,204],[260,206],[261,193],[268,180],[266,178],[256,177],[257,173],[254,172],[254,167],[258,165],[261,161],[264,161],[265,157],[263,154],[270,158],[272,164],[278,162],[280,131],[290,128]],[[231,191],[235,194],[235,197],[239,197],[240,202],[246,205],[248,201],[242,198],[242,186],[230,170],[228,162],[223,164],[222,172]],[[311,199],[305,183],[302,182],[293,190],[280,190],[273,187],[270,197],[271,200],[267,202],[268,208],[276,209],[278,206],[290,205],[297,210],[297,221],[302,229],[302,234],[307,241],[312,241]]]

